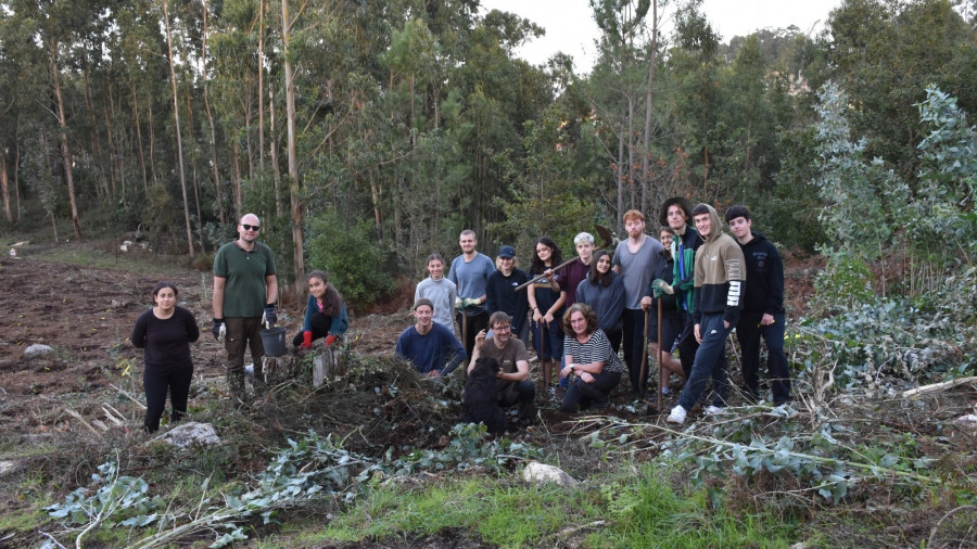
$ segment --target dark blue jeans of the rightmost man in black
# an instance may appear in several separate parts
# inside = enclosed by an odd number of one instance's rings
[[[770,388],[775,405],[790,401],[790,371],[784,354],[784,329],[787,325],[784,314],[774,315],[774,323],[759,325],[763,312],[746,312],[736,324],[736,337],[743,362],[743,381],[747,393],[758,399],[760,396],[760,337],[766,342],[766,369],[770,372]]]

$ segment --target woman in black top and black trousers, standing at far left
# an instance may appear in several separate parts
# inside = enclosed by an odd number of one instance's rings
[[[145,390],[145,420],[143,429],[152,433],[160,429],[160,418],[166,407],[166,392],[173,405],[170,422],[187,413],[193,360],[190,343],[200,339],[196,319],[189,310],[176,305],[178,291],[172,282],[160,282],[153,289],[155,306],[136,319],[130,340],[145,349],[142,385]]]

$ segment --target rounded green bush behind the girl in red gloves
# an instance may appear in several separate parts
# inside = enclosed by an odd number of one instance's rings
[[[329,282],[351,303],[370,303],[393,290],[393,272],[384,268],[368,220],[351,226],[326,210],[309,217],[306,239],[308,269],[325,270]]]

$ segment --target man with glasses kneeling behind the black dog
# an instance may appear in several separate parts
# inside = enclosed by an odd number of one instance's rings
[[[493,335],[487,337],[485,330],[475,335],[474,349],[468,363],[468,373],[475,367],[480,358],[494,358],[498,361],[496,374],[498,405],[508,408],[519,405],[519,422],[532,423],[536,417],[533,399],[536,388],[529,381],[529,355],[525,344],[512,336],[512,319],[504,311],[497,310],[488,318]]]

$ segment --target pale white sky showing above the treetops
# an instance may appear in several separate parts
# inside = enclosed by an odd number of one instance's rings
[[[517,50],[533,65],[545,63],[558,51],[573,56],[578,73],[588,73],[597,55],[594,40],[600,29],[594,23],[588,0],[482,0],[485,12],[512,12],[546,28],[546,36]],[[675,4],[675,1],[669,2]],[[702,12],[724,42],[765,27],[797,25],[802,31],[824,28],[828,13],[841,0],[705,0]],[[483,14],[485,13],[483,12]],[[672,26],[674,8],[664,10],[662,28]]]

